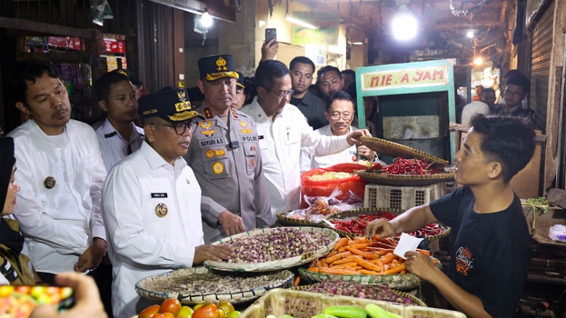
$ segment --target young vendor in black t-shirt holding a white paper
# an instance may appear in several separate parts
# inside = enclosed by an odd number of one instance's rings
[[[405,254],[408,271],[468,317],[515,317],[532,242],[509,180],[531,160],[535,134],[509,117],[477,115],[471,125],[455,156],[455,179],[463,187],[389,222],[370,223],[366,236],[412,232],[438,221],[451,226],[449,276],[418,252]]]

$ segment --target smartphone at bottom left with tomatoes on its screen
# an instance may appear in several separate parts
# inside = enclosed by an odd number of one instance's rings
[[[74,304],[73,289],[55,286],[0,285],[0,317],[25,318],[38,305],[64,311]]]

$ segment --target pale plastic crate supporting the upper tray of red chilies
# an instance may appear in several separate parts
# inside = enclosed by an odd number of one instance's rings
[[[425,187],[392,187],[366,184],[364,208],[400,208],[428,204],[446,194],[446,183],[439,182]]]

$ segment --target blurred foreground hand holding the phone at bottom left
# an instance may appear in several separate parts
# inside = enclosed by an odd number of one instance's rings
[[[108,317],[100,301],[100,293],[91,276],[80,273],[60,273],[55,283],[69,286],[74,290],[75,305],[65,311],[57,312],[52,305],[40,305],[33,310],[30,318],[105,318]]]

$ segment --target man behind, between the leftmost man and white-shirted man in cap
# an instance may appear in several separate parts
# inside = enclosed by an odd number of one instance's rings
[[[98,106],[106,112],[106,119],[95,131],[104,165],[110,171],[118,161],[137,151],[144,141],[144,129],[134,124],[137,92],[122,69],[100,76],[94,89]]]

